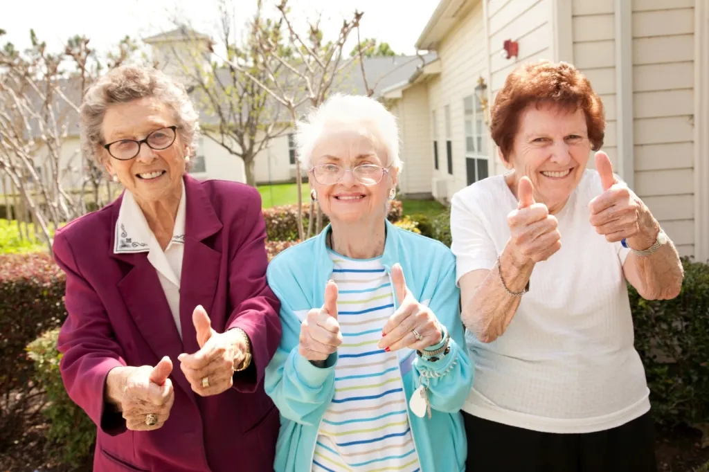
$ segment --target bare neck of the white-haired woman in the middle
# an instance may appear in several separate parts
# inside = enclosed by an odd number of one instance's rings
[[[330,249],[350,259],[373,259],[384,254],[386,224],[382,220],[372,223],[330,222]]]

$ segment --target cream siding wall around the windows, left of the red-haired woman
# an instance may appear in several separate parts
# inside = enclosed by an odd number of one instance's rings
[[[474,94],[478,77],[486,77],[487,65],[482,3],[473,3],[471,9],[460,13],[462,18],[459,23],[440,42],[437,53],[442,72],[428,83],[428,113],[436,111],[439,136],[439,170],[433,172],[432,185],[435,186],[438,179],[447,179],[449,182],[445,196],[438,195],[433,189],[438,198],[450,198],[467,184],[463,99]],[[450,106],[452,176],[447,174],[445,106]]]

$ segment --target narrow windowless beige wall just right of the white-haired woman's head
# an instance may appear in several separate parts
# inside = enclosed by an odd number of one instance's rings
[[[403,161],[399,188],[403,193],[431,193],[433,141],[425,85],[417,84],[403,91],[402,99],[398,101],[398,119],[403,136],[399,152]]]

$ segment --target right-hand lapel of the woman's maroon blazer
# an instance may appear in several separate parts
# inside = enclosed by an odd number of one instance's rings
[[[211,315],[222,260],[221,253],[206,240],[220,231],[222,224],[202,184],[190,176],[184,177],[184,184],[187,208],[179,313],[182,343],[185,352],[192,354],[199,351],[192,313],[202,305]]]

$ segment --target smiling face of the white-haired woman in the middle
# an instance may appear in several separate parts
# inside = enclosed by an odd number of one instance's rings
[[[384,146],[366,127],[331,125],[313,148],[311,164],[313,167],[337,164],[352,170],[361,164],[387,167],[387,158]],[[385,218],[389,192],[396,189],[394,168],[389,169],[374,185],[360,183],[354,179],[352,172],[345,172],[342,179],[333,185],[320,184],[313,178],[313,172],[309,174],[309,179],[323,213],[333,223],[374,223]]]

